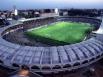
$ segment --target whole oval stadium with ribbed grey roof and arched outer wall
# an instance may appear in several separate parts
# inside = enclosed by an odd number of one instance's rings
[[[92,17],[49,16],[1,27],[0,65],[42,74],[89,66],[103,57],[103,35],[96,33],[101,26]]]

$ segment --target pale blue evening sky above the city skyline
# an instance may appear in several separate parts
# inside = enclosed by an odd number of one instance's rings
[[[103,0],[0,0],[0,10],[42,8],[103,8]]]

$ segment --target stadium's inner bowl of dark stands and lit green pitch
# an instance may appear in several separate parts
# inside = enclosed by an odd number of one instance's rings
[[[95,20],[95,24],[92,19],[90,22],[85,21],[87,19],[82,17],[79,20],[78,17],[49,17],[32,20],[11,27],[9,32],[7,32],[8,30],[4,31],[3,38],[26,46],[60,46],[79,43],[90,38],[89,35],[92,31],[99,28],[100,22],[98,20]],[[16,29],[17,27],[19,28]]]

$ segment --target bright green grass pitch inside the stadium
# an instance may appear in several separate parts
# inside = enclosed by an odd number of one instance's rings
[[[73,44],[85,39],[86,35],[92,30],[93,27],[87,23],[56,22],[32,28],[26,32],[26,35],[48,43],[52,42],[56,44],[61,42]]]

